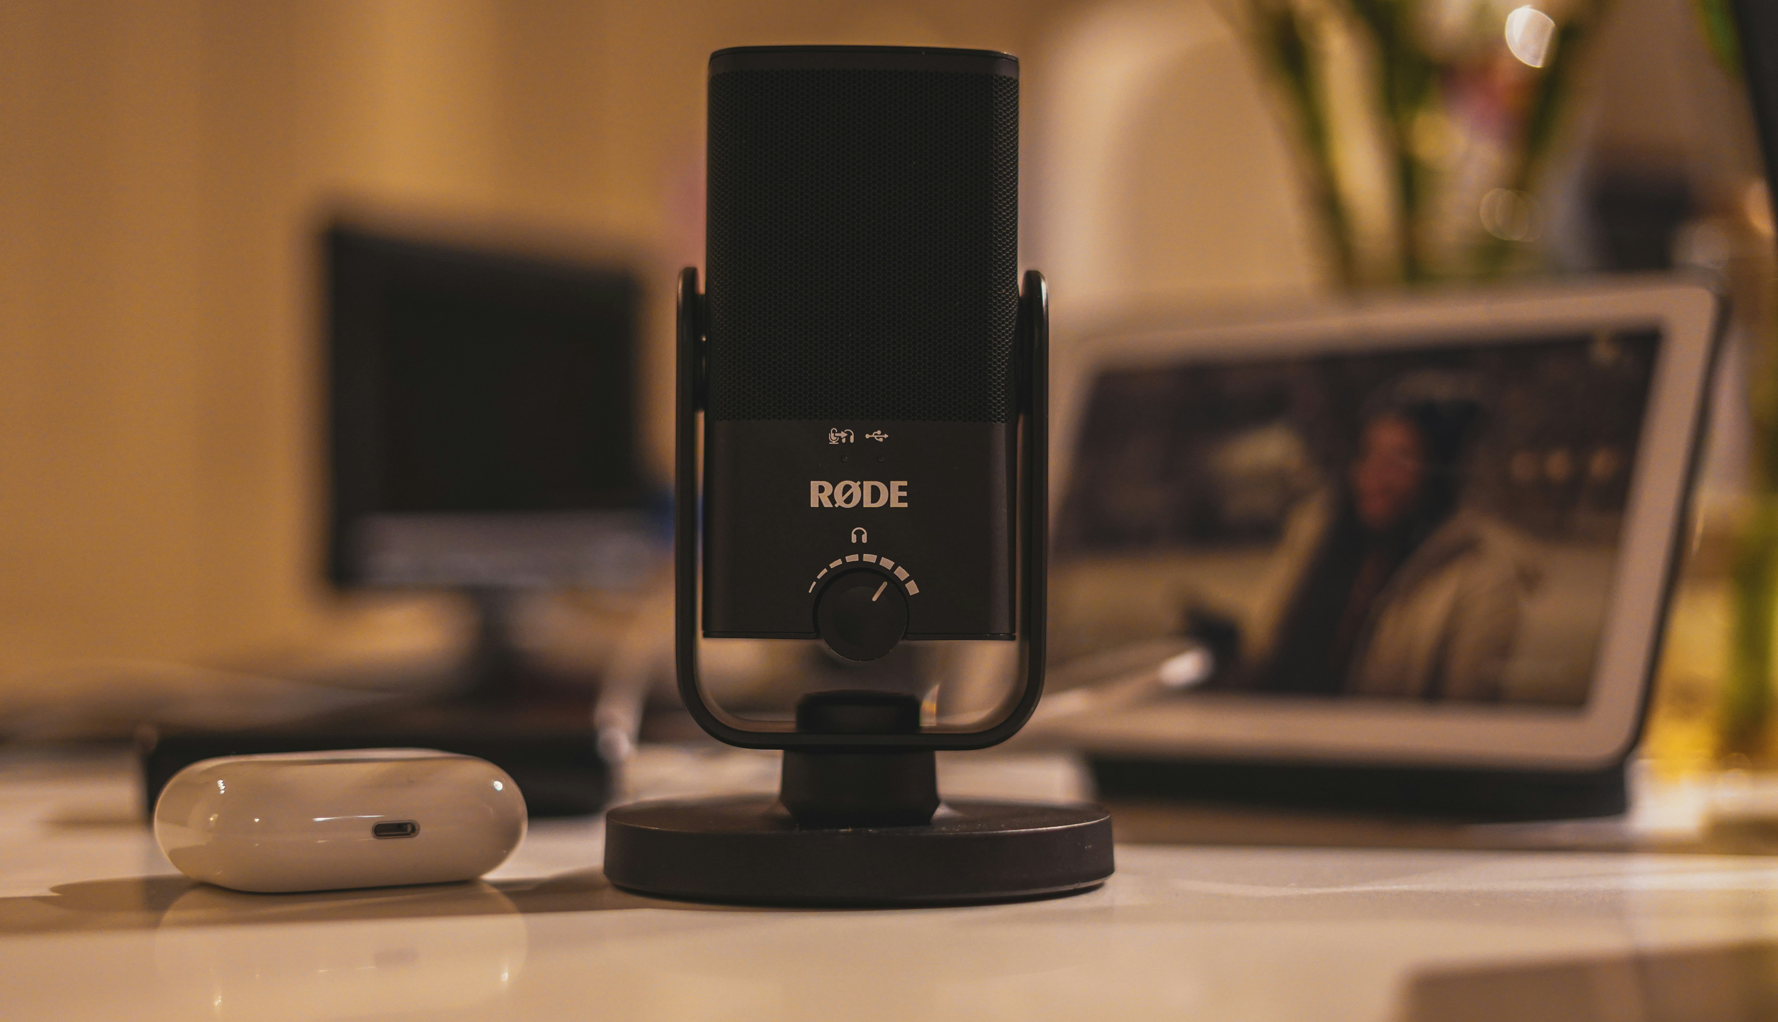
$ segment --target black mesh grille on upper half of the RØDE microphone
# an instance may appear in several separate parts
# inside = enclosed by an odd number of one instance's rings
[[[1008,421],[1017,78],[715,75],[708,203],[713,418]]]

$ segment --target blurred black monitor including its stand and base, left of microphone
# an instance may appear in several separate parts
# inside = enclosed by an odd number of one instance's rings
[[[592,679],[526,663],[512,617],[526,590],[626,588],[665,563],[637,450],[637,277],[343,224],[324,258],[327,576],[462,590],[478,627],[453,697],[144,729],[144,807],[215,755],[423,747],[496,763],[532,816],[597,812]]]

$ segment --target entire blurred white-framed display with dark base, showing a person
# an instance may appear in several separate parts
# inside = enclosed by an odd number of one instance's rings
[[[1622,809],[1718,306],[1588,283],[1093,338],[1058,371],[1031,729],[1113,793]]]

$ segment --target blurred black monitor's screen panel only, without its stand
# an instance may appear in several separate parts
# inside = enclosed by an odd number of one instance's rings
[[[340,587],[629,587],[658,563],[629,270],[332,226]]]

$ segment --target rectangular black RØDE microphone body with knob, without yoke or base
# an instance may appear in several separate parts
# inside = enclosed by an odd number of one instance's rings
[[[1015,635],[1019,62],[709,60],[704,635]]]

